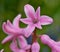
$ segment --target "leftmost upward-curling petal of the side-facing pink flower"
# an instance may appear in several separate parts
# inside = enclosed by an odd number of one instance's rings
[[[12,35],[12,34],[16,34],[16,30],[9,27],[5,22],[2,25],[2,29],[5,33]]]

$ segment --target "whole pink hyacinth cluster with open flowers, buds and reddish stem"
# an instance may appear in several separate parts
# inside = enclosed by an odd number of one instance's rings
[[[10,49],[12,52],[40,52],[40,44],[37,39],[40,39],[43,44],[48,45],[52,52],[60,52],[60,42],[55,42],[48,35],[37,35],[36,29],[42,29],[42,25],[49,25],[53,23],[53,19],[49,16],[40,16],[40,7],[35,11],[34,8],[26,4],[24,11],[27,18],[21,18],[21,14],[18,14],[13,23],[9,20],[3,22],[2,29],[8,34],[8,36],[2,41],[2,44],[12,41]],[[27,24],[27,27],[20,28],[19,24],[23,22]],[[32,36],[32,44],[28,44],[26,38]]]

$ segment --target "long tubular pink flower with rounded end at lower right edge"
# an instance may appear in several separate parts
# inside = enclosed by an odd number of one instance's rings
[[[40,39],[43,44],[48,45],[52,49],[52,52],[60,52],[60,42],[55,42],[48,35],[41,35]]]

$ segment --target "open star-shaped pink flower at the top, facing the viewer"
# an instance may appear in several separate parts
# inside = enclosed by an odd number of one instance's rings
[[[42,29],[41,25],[48,25],[53,22],[53,19],[49,16],[42,15],[40,16],[40,7],[37,8],[36,12],[34,8],[27,4],[24,6],[24,11],[27,16],[27,18],[20,19],[21,22],[31,25],[34,28],[32,29],[34,31],[35,27]]]

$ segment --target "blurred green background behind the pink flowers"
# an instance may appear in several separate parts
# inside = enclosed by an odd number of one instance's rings
[[[12,22],[14,17],[19,13],[26,17],[24,5],[31,4],[35,9],[41,7],[41,15],[48,15],[54,19],[53,24],[43,26],[42,30],[37,30],[37,34],[48,34],[53,40],[60,40],[60,0],[0,0],[0,50],[11,52],[9,49],[10,42],[2,45],[1,41],[7,36],[2,31],[2,23],[8,19]],[[26,25],[21,23],[21,27]],[[40,40],[38,40],[40,42]],[[51,52],[51,49],[40,42],[40,52]]]

